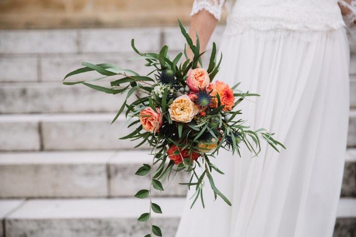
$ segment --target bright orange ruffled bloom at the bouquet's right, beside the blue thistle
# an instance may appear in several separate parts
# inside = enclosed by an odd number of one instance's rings
[[[232,89],[230,87],[220,81],[216,81],[215,84],[210,84],[209,88],[211,88],[212,96],[216,96],[216,94],[219,94],[220,96],[220,101],[221,105],[225,105],[223,108],[223,111],[230,111],[232,110],[232,107],[234,106],[235,102],[235,96],[233,95]],[[208,90],[209,90],[208,88]],[[218,107],[218,98],[213,98],[213,108]]]

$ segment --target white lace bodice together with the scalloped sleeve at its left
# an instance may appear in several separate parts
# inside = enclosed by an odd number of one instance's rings
[[[255,30],[329,31],[345,25],[338,0],[227,0],[226,33]],[[195,0],[191,15],[202,9],[220,19],[224,0]]]

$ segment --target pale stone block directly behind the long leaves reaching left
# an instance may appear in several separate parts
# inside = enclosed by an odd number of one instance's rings
[[[85,54],[61,54],[61,55],[42,55],[41,56],[41,78],[42,81],[61,82],[64,76],[78,69],[82,62],[90,63],[112,63],[121,68],[131,69],[140,75],[147,74],[151,68],[145,67],[144,60],[130,60],[137,57],[137,54],[131,50],[120,53],[85,53]],[[81,76],[73,76],[74,79],[88,80],[100,77],[100,74],[88,72]],[[109,77],[112,79],[114,77]],[[72,80],[68,78],[67,80]]]

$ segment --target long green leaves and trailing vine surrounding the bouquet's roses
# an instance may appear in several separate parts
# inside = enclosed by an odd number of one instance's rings
[[[184,93],[186,85],[186,77],[189,70],[202,67],[203,62],[201,56],[205,51],[201,50],[199,36],[196,33],[196,42],[190,38],[185,31],[181,22],[178,20],[180,31],[186,40],[183,52],[179,52],[173,60],[168,56],[168,46],[163,46],[158,53],[155,52],[140,52],[134,45],[134,39],[131,41],[131,46],[137,57],[132,60],[144,60],[145,66],[150,67],[150,72],[147,75],[139,75],[130,69],[123,69],[109,63],[91,64],[83,62],[81,68],[68,73],[63,80],[63,84],[67,86],[84,85],[90,89],[113,94],[124,95],[124,101],[118,105],[119,110],[112,120],[114,123],[120,116],[125,117],[128,122],[130,132],[120,138],[122,140],[137,141],[135,147],[148,144],[152,147],[152,164],[143,164],[136,171],[138,176],[151,176],[149,190],[139,190],[134,196],[137,198],[150,197],[149,212],[143,213],[138,221],[146,222],[150,220],[151,212],[162,213],[161,207],[152,202],[151,189],[163,191],[162,181],[170,179],[177,172],[185,171],[190,174],[190,179],[186,185],[189,189],[194,189],[192,195],[191,207],[200,200],[205,207],[203,197],[204,180],[209,180],[211,189],[214,192],[214,197],[218,196],[223,199],[228,205],[231,205],[228,198],[216,187],[213,173],[223,175],[223,171],[211,163],[210,159],[215,158],[215,154],[219,150],[225,149],[233,154],[240,156],[240,147],[246,146],[252,154],[257,156],[261,151],[261,142],[267,144],[277,152],[280,147],[285,149],[285,146],[273,138],[273,133],[267,132],[265,129],[252,130],[245,125],[246,120],[240,116],[242,111],[238,109],[246,97],[260,96],[258,94],[241,92],[237,88],[239,83],[231,87],[235,96],[234,106],[232,111],[224,111],[225,105],[219,94],[209,97],[211,92],[205,92],[207,95],[201,95],[200,100],[196,103],[202,107],[206,107],[205,115],[196,115],[189,123],[175,122],[170,117],[169,108],[173,100],[179,93]],[[187,46],[187,47],[186,47]],[[189,59],[186,50],[190,50],[192,58]],[[182,58],[182,56],[183,57]],[[219,72],[223,55],[219,55],[217,60],[217,46],[213,43],[212,52],[209,59],[207,73],[210,81]],[[100,75],[98,78],[90,80],[68,81],[69,78],[82,75],[83,73],[95,71]],[[107,79],[115,76],[115,80],[111,80],[107,86],[105,84],[96,85],[102,79]],[[119,77],[119,78],[118,78]],[[107,82],[107,81],[105,81]],[[157,94],[157,88],[163,88]],[[160,89],[161,90],[161,89]],[[188,92],[189,90],[187,90]],[[203,98],[204,97],[204,98]],[[216,98],[217,104],[211,108],[209,101]],[[128,103],[128,101],[131,101]],[[140,118],[148,115],[140,115],[140,111],[145,108],[152,108],[156,113],[162,113],[162,126],[159,131],[145,131],[140,124]],[[158,108],[158,109],[157,109]],[[200,109],[201,109],[200,108]],[[159,111],[158,111],[159,110]],[[130,121],[132,120],[132,121]],[[181,162],[176,165],[173,160],[168,157],[167,151],[171,146],[177,146],[173,156],[181,158]],[[212,150],[206,147],[213,147]],[[193,159],[193,154],[199,154],[197,159]],[[169,160],[169,162],[168,162]],[[196,168],[203,168],[203,173],[198,175]],[[207,179],[205,179],[207,178]],[[199,198],[200,197],[200,198]],[[152,219],[151,219],[152,222]],[[150,223],[151,234],[145,237],[151,237],[152,234],[162,236],[161,229]]]

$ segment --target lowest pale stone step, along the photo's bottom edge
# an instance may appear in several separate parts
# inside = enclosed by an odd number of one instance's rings
[[[26,200],[4,218],[6,237],[142,237],[148,223],[137,217],[147,199],[34,199]],[[153,213],[165,237],[174,237],[184,198],[155,198],[163,214]],[[3,201],[0,201],[0,206]],[[9,209],[9,208],[8,208]],[[341,199],[334,237],[355,237],[356,199]]]

